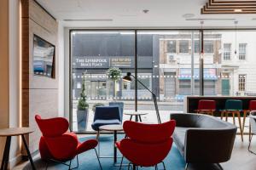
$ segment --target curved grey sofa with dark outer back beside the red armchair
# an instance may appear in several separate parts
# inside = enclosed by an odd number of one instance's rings
[[[236,126],[201,114],[175,113],[171,114],[171,119],[176,120],[172,138],[187,166],[189,163],[219,163],[230,160]]]

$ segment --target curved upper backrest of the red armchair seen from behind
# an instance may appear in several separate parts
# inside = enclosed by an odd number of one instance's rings
[[[139,143],[162,143],[171,139],[176,122],[171,120],[161,124],[143,124],[140,122],[124,122],[124,131],[127,137]]]

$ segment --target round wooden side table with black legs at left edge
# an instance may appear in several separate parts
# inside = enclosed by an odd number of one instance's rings
[[[21,136],[23,144],[26,149],[27,156],[29,158],[29,161],[31,163],[32,169],[35,170],[35,166],[32,160],[31,153],[28,149],[28,146],[26,144],[26,139],[24,137],[25,134],[32,133],[33,130],[29,127],[11,127],[11,128],[3,128],[0,129],[0,137],[6,137],[6,143],[3,151],[3,159],[2,159],[2,165],[1,170],[7,170],[8,162],[9,162],[9,149],[11,144],[11,137],[12,136]]]

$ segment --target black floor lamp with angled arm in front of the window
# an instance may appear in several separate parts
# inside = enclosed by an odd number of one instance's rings
[[[157,121],[158,123],[160,124],[161,123],[161,119],[160,119],[160,114],[159,114],[159,110],[158,110],[158,105],[157,105],[157,100],[156,100],[156,96],[155,94],[149,89],[147,88],[143,82],[139,81],[136,77],[134,77],[131,72],[127,72],[127,75],[125,77],[123,77],[123,80],[125,82],[131,82],[132,79],[131,77],[133,77],[137,82],[139,82],[141,85],[143,85],[144,88],[146,88],[148,90],[148,92],[150,92],[152,94],[152,97],[154,99],[154,109],[155,109],[155,112],[156,112],[156,116],[157,116]]]

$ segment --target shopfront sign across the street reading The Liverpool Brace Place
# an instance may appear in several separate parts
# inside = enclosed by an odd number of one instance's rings
[[[75,56],[73,57],[73,68],[100,68],[110,67],[134,68],[134,56]],[[152,68],[152,56],[139,57],[140,68]]]

